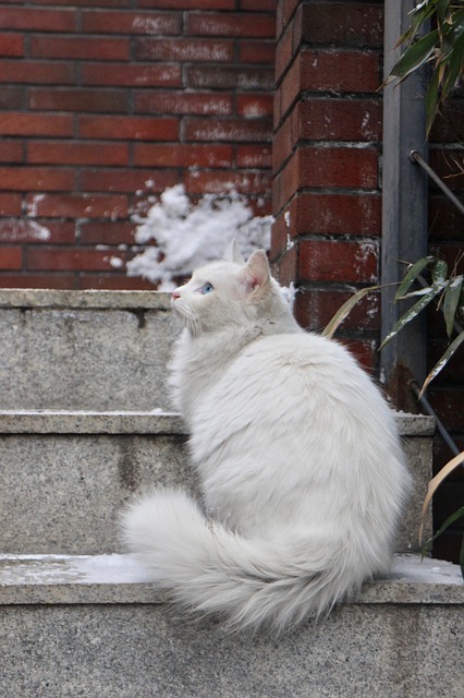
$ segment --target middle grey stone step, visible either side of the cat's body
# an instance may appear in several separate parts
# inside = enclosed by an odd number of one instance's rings
[[[434,420],[396,420],[416,481],[398,551],[412,552],[431,471]],[[173,413],[0,411],[0,550],[122,552],[120,512],[135,493],[158,485],[196,493],[185,440]]]

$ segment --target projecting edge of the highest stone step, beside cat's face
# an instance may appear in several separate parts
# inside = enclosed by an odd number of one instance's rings
[[[23,310],[161,310],[171,308],[162,291],[0,289],[0,309]]]

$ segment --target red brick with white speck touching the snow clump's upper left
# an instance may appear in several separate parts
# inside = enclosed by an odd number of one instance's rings
[[[167,186],[179,182],[175,171],[154,170],[83,170],[80,174],[81,189],[93,192],[126,192],[147,189],[146,182],[152,182],[151,191],[162,192]]]

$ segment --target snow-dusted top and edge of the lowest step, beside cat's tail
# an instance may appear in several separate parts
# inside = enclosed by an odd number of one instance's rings
[[[162,603],[129,555],[0,555],[0,605]],[[356,604],[464,604],[457,565],[395,555],[391,574],[366,582]]]

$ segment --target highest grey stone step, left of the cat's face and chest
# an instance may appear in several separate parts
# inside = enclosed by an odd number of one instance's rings
[[[0,290],[0,409],[169,409],[169,310],[155,291]]]

